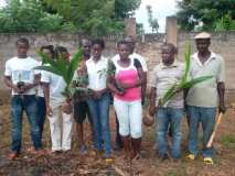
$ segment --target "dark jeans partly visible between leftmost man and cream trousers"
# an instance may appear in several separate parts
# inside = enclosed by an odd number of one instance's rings
[[[46,116],[45,98],[36,97],[36,106],[38,106],[36,121],[40,129],[40,140],[42,140],[42,133],[44,129],[43,127],[44,127],[45,116]]]

